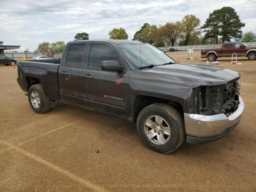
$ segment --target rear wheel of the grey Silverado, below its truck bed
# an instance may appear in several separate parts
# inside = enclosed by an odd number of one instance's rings
[[[51,107],[51,100],[44,94],[41,84],[32,85],[29,88],[28,102],[36,113],[44,113]]]

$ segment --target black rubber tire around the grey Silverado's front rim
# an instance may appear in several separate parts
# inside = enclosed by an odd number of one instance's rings
[[[170,138],[164,144],[155,144],[154,138],[157,138],[157,134],[160,132],[155,132],[156,134],[151,140],[146,136],[146,120],[151,116],[159,116],[164,119],[164,121],[170,127]],[[157,125],[157,124],[156,124]],[[164,126],[164,125],[163,125]],[[152,104],[144,108],[137,119],[137,131],[138,135],[142,139],[142,142],[146,147],[160,153],[169,153],[176,150],[185,140],[185,129],[184,120],[181,114],[172,106],[162,103]],[[152,130],[153,131],[153,130]],[[162,132],[162,130],[161,130]],[[153,140],[153,141],[152,141]]]

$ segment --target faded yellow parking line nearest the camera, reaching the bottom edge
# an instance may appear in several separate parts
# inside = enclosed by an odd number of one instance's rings
[[[72,173],[68,172],[67,170],[64,170],[64,169],[62,169],[62,168],[60,168],[60,167],[58,167],[58,166],[56,166],[56,165],[46,161],[46,160],[43,160],[40,157],[38,157],[38,156],[36,156],[36,155],[34,155],[34,154],[30,153],[30,152],[27,152],[26,150],[23,150],[23,149],[19,148],[18,146],[12,145],[12,144],[10,144],[10,143],[8,143],[6,141],[3,141],[3,140],[0,140],[0,142],[2,142],[5,145],[9,146],[9,148],[14,148],[16,151],[24,154],[25,156],[31,158],[32,160],[35,160],[35,161],[37,161],[37,162],[39,162],[41,164],[44,164],[44,165],[46,165],[46,166],[48,166],[48,167],[50,167],[50,168],[52,168],[52,169],[62,173],[62,174],[64,174],[65,176],[68,176],[69,178],[72,178],[73,180],[79,182],[83,186],[86,186],[86,187],[88,187],[88,188],[90,188],[92,190],[96,190],[98,192],[106,192],[106,190],[104,190],[103,188],[101,188],[99,186],[96,186],[95,184],[93,184],[93,183],[91,183],[91,182],[89,182],[87,180],[84,180],[83,178],[81,178],[79,176],[76,176],[75,174],[72,174]]]

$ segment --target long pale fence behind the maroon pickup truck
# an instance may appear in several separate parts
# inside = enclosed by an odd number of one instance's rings
[[[256,42],[244,43],[247,46],[256,46]],[[160,50],[169,50],[170,48],[188,50],[189,48],[193,48],[194,50],[203,50],[203,49],[220,49],[222,44],[208,44],[208,45],[188,45],[188,46],[165,46],[158,47]]]

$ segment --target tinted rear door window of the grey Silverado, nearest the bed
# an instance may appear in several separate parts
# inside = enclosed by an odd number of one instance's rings
[[[82,68],[82,57],[84,54],[85,44],[72,44],[68,48],[66,58],[67,66]]]

